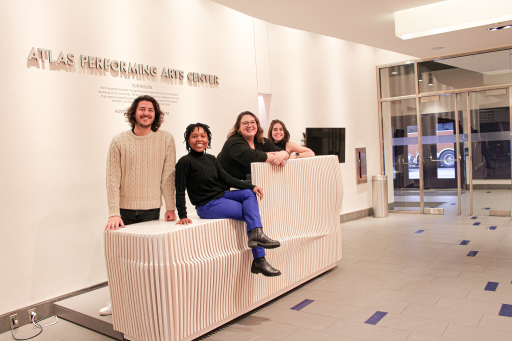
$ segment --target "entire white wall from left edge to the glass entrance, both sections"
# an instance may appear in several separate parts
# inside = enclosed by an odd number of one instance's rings
[[[178,157],[185,126],[197,121],[211,126],[216,155],[236,115],[258,112],[258,87],[252,18],[207,0],[2,2],[0,19],[1,315],[106,280],[106,151],[128,128],[116,110],[129,103],[101,98],[100,87],[178,94],[162,106]],[[72,52],[75,65],[29,61],[33,47],[54,58]],[[294,141],[306,126],[345,126],[343,211],[370,207],[370,184],[355,185],[353,150],[366,146],[368,174],[378,174],[375,65],[406,58],[275,25],[269,52],[271,118]],[[154,65],[158,75],[81,67],[80,54]],[[218,75],[220,84],[166,81],[164,67]]]

